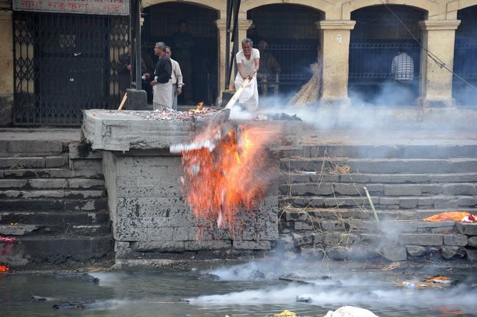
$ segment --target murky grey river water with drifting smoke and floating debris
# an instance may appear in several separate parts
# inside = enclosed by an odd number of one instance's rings
[[[100,279],[98,284],[74,277],[10,275],[0,278],[0,316],[273,316],[284,309],[298,316],[324,316],[343,305],[370,309],[381,317],[477,316],[473,271],[441,271],[460,281],[448,289],[395,285],[433,273],[252,262],[211,271],[91,273]],[[309,284],[279,280],[284,276]],[[297,302],[297,296],[311,302]],[[93,301],[85,309],[53,309],[60,302],[79,300]]]

